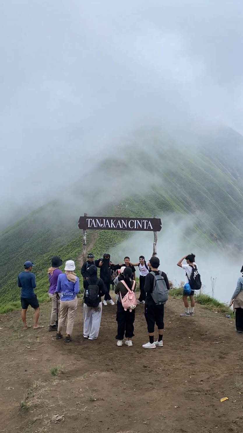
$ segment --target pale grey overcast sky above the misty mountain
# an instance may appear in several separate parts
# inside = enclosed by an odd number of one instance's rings
[[[141,126],[243,132],[242,0],[0,0],[2,215]]]

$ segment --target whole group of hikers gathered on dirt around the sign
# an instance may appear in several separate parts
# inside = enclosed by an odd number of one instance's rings
[[[182,263],[186,261],[186,264]],[[67,321],[65,343],[72,341],[74,319],[77,312],[78,299],[80,292],[79,278],[75,274],[75,263],[67,260],[64,273],[60,270],[62,260],[54,256],[51,259],[51,267],[48,269],[49,278],[49,298],[51,301],[51,323],[49,331],[56,332],[56,339],[63,338],[62,331]],[[109,302],[112,306],[115,302],[110,295],[110,286],[115,289],[116,294],[116,321],[117,321],[117,346],[132,346],[134,337],[135,310],[138,304],[145,304],[144,316],[147,322],[149,341],[143,347],[154,349],[163,346],[164,332],[164,305],[168,300],[170,290],[169,281],[165,272],[159,270],[160,260],[153,256],[146,262],[143,255],[139,257],[139,262],[131,263],[128,256],[124,263],[115,265],[111,262],[110,254],[105,253],[102,259],[94,260],[94,255],[89,254],[87,261],[83,263],[81,275],[83,276],[83,337],[95,340],[99,335],[99,328],[102,317],[102,304],[107,306]],[[185,312],[181,317],[191,317],[194,315],[194,293],[201,288],[201,278],[198,267],[195,263],[195,255],[189,254],[182,257],[177,263],[185,271],[185,284],[183,289],[183,303]],[[35,274],[32,273],[34,264],[30,261],[24,263],[24,271],[18,276],[18,286],[21,288],[22,321],[24,329],[29,325],[26,323],[26,311],[29,306],[35,310],[34,329],[43,328],[38,325],[39,303],[34,292],[36,287]],[[135,296],[136,281],[135,268],[139,270],[139,289],[138,300]],[[100,269],[98,277],[98,268]],[[243,267],[241,269],[243,273]],[[104,297],[102,303],[102,297]],[[190,307],[189,307],[189,301]],[[230,305],[234,304],[236,312],[237,332],[243,333],[243,277],[237,282],[237,289],[233,294]],[[58,318],[59,317],[59,318]],[[154,327],[158,328],[158,338],[154,341]]]

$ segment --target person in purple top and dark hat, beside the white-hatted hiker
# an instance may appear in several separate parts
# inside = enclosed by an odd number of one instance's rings
[[[59,267],[62,265],[62,260],[60,257],[54,256],[51,259],[51,268],[48,269],[48,278],[50,282],[49,287],[49,298],[51,301],[51,324],[49,326],[49,331],[57,331],[58,330],[58,313],[60,309],[60,299],[59,295],[55,294],[55,290],[58,284],[58,275],[62,274],[62,271]]]

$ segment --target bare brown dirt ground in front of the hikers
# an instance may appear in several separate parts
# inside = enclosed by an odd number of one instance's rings
[[[116,346],[116,307],[103,308],[99,339],[89,341],[80,303],[70,344],[48,332],[50,310],[42,306],[42,330],[23,331],[19,312],[0,317],[0,432],[243,431],[243,337],[233,319],[198,306],[180,318],[182,301],[170,299],[164,347],[148,350],[142,305],[133,347]]]

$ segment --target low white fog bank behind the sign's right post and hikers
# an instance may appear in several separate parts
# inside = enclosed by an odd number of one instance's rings
[[[175,217],[161,217],[162,230],[158,233],[157,257],[160,259],[160,270],[166,272],[169,280],[175,286],[185,281],[185,271],[177,266],[182,257],[191,252],[196,255],[195,262],[201,275],[202,290],[212,295],[211,278],[217,278],[214,288],[214,297],[222,302],[230,302],[236,288],[237,280],[241,276],[243,265],[242,256],[236,255],[228,249],[227,252],[200,248],[201,239],[196,236],[188,239],[185,231],[192,227],[193,220],[190,216],[184,216],[176,220]],[[111,249],[111,259],[114,263],[120,262],[126,255],[132,263],[137,263],[140,255],[144,255],[149,261],[153,253],[153,232],[139,232],[118,248]],[[186,261],[183,262],[186,264]],[[139,275],[136,268],[136,275]]]

